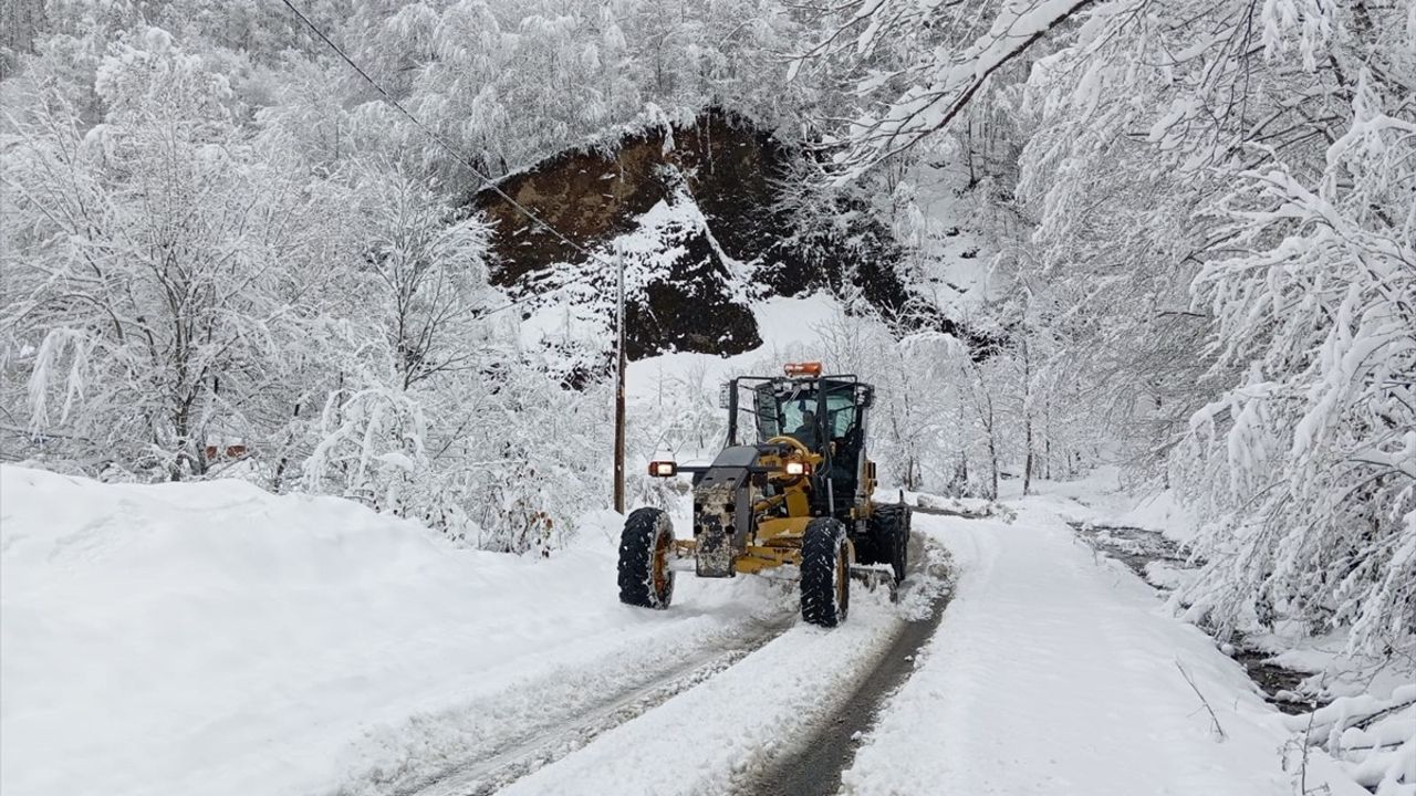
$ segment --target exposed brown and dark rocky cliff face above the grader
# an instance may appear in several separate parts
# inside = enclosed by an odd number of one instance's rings
[[[503,191],[598,258],[493,191],[479,193],[472,205],[496,228],[493,280],[515,296],[571,297],[603,309],[607,320],[616,280],[609,263],[623,258],[630,358],[750,350],[760,344],[753,299],[843,280],[886,313],[901,309],[908,292],[893,272],[898,251],[878,224],[845,231],[857,245],[840,254],[821,254],[831,252],[823,241],[800,242],[776,207],[792,157],[749,120],[709,110],[687,125],[565,152],[501,180]]]

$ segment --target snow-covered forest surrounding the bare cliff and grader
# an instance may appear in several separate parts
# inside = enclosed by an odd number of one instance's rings
[[[1206,629],[1416,650],[1416,4],[6,0],[3,23],[7,462],[238,477],[552,554],[609,501],[613,319],[528,337],[473,197],[725,109],[794,153],[769,210],[811,245],[889,232],[918,302],[885,312],[841,266],[800,351],[877,385],[889,483],[997,499],[1116,466],[1195,517],[1180,602]],[[983,288],[942,300],[960,225]],[[721,433],[705,381],[632,405],[636,456]]]

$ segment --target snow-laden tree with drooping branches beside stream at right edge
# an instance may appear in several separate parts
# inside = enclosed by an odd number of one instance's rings
[[[1197,302],[1242,375],[1175,466],[1214,517],[1191,589],[1212,620],[1298,616],[1382,652],[1416,636],[1416,120],[1358,79],[1315,181],[1279,161],[1216,208],[1232,254]]]

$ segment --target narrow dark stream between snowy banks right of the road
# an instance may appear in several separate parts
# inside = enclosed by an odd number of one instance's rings
[[[1174,581],[1164,576],[1165,569],[1184,572],[1204,565],[1204,561],[1192,555],[1189,548],[1167,538],[1160,531],[1092,523],[1068,523],[1068,525],[1092,550],[1120,561],[1163,593],[1174,589]],[[1161,567],[1153,567],[1153,564]],[[1245,667],[1249,678],[1263,690],[1264,698],[1273,707],[1286,714],[1298,715],[1324,704],[1323,701],[1314,703],[1300,694],[1298,687],[1308,677],[1308,673],[1294,671],[1273,663],[1272,653],[1246,644],[1242,636],[1235,640],[1233,646],[1235,652],[1231,657]]]

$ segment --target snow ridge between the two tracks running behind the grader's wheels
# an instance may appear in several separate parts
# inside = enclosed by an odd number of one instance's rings
[[[831,728],[841,705],[877,671],[901,625],[923,619],[946,586],[937,576],[919,578],[901,605],[862,589],[852,595],[858,602],[852,599],[843,626],[797,623],[736,666],[508,785],[506,793],[750,792]]]

